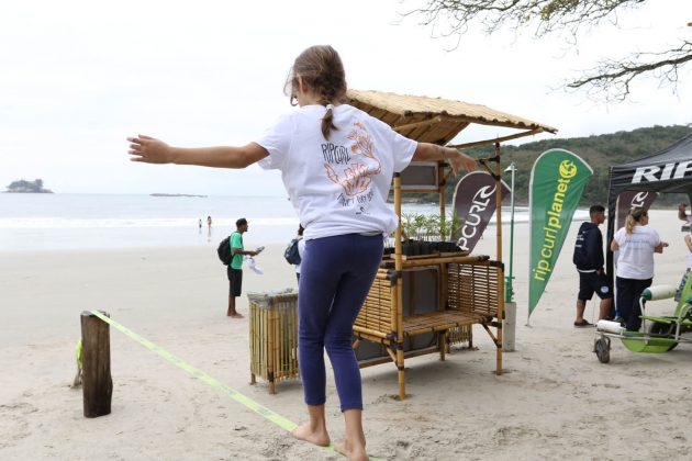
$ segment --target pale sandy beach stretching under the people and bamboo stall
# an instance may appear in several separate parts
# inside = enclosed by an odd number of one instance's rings
[[[670,243],[656,257],[655,284],[677,285],[687,267],[681,222],[651,211]],[[368,452],[390,460],[690,459],[692,347],[634,353],[613,342],[611,362],[592,352],[593,328],[574,328],[578,279],[573,223],[538,307],[526,323],[528,226],[515,227],[516,350],[494,374],[495,350],[476,327],[476,350],[406,361],[404,402],[393,364],[362,370]],[[601,226],[605,233],[605,226]],[[505,227],[505,258],[509,228]],[[290,238],[290,236],[289,236]],[[252,232],[246,246],[254,241]],[[283,246],[245,271],[244,293],[294,288]],[[478,254],[494,257],[489,227]],[[80,313],[111,317],[290,420],[304,419],[300,382],[248,385],[248,324],[225,316],[227,281],[215,247],[0,254],[0,459],[298,460],[342,459],[288,432],[219,390],[111,329],[112,414],[82,415],[69,384]],[[247,297],[238,299],[247,313]],[[670,313],[672,300],[648,304]],[[587,305],[595,321],[596,301]],[[328,373],[327,417],[343,436]]]

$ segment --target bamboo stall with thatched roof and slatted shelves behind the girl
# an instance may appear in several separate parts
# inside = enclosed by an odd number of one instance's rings
[[[448,145],[471,124],[514,128],[512,134],[449,145],[471,147],[494,144],[494,156],[479,162],[499,184],[502,177],[500,143],[537,133],[556,133],[547,125],[483,105],[379,91],[349,90],[349,103],[380,119],[402,135],[418,142]],[[412,162],[394,175],[394,211],[399,217],[394,252],[386,255],[354,326],[354,348],[361,368],[392,362],[398,369],[399,397],[405,397],[404,360],[439,353],[445,360],[448,342],[471,341],[471,326],[481,325],[496,346],[495,373],[502,374],[502,319],[504,266],[502,263],[501,188],[495,188],[496,256],[436,252],[402,254],[401,202],[403,193],[436,192],[439,217],[445,220],[445,162]],[[424,296],[416,296],[416,292]],[[424,308],[420,308],[424,304]],[[494,333],[491,328],[494,328]],[[423,341],[416,340],[424,337]],[[368,346],[370,345],[370,346]],[[376,349],[372,349],[375,346]],[[369,353],[359,353],[362,348]],[[379,352],[379,353],[378,353]]]

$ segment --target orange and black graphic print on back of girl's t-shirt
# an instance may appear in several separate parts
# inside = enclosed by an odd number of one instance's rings
[[[375,191],[372,178],[380,173],[382,165],[373,154],[372,137],[360,122],[346,135],[353,144],[347,148],[332,143],[322,144],[324,169],[327,178],[342,187],[337,200],[342,206],[358,206],[356,214],[368,214],[368,203]]]

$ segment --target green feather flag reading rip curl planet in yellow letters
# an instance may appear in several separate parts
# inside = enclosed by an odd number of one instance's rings
[[[536,308],[550,280],[574,210],[593,175],[587,162],[563,149],[540,155],[531,172],[531,259],[528,273],[528,316]]]

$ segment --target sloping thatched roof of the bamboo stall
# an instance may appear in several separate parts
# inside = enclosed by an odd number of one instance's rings
[[[389,124],[404,136],[420,142],[446,145],[472,123],[516,128],[522,132],[500,139],[483,139],[470,144],[557,132],[553,126],[468,102],[359,90],[348,90],[346,97],[349,104]]]

